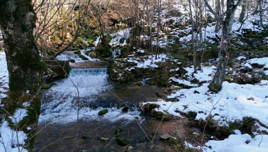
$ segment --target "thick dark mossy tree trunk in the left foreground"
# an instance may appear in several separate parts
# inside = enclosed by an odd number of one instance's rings
[[[1,0],[0,4],[0,26],[9,72],[7,111],[13,114],[22,103],[30,103],[28,116],[16,128],[28,133],[27,149],[32,149],[35,131],[26,128],[36,130],[37,127],[41,108],[38,90],[45,69],[33,37],[36,15],[31,0]]]

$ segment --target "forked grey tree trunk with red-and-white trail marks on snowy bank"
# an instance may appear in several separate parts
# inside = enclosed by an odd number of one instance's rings
[[[209,84],[209,90],[213,92],[219,92],[222,89],[222,83],[225,77],[225,68],[229,60],[229,45],[232,37],[232,26],[234,22],[235,10],[242,0],[238,0],[235,4],[235,0],[226,1],[226,11],[225,18],[222,19],[217,15],[216,12],[209,6],[207,0],[204,0],[206,6],[209,8],[210,12],[213,13],[216,20],[222,24],[222,37],[220,44],[220,59],[217,66],[217,71],[213,77],[213,80]],[[226,42],[226,43],[224,43]]]

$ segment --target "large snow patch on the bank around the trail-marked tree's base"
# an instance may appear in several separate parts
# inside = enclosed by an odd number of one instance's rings
[[[225,81],[218,94],[207,93],[208,85],[205,83],[200,87],[180,89],[167,96],[177,98],[177,102],[158,100],[148,103],[160,105],[160,108],[155,109],[156,111],[167,111],[175,116],[181,116],[175,111],[196,112],[197,120],[205,120],[211,114],[213,120],[219,121],[219,126],[228,126],[229,121],[242,121],[243,117],[258,119],[262,124],[268,126],[268,99],[265,98],[267,85],[242,85]]]

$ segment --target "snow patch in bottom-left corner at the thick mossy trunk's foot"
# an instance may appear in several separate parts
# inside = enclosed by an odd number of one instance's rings
[[[23,147],[17,147],[17,144],[24,145],[27,139],[26,134],[23,131],[17,131],[10,129],[8,127],[8,122],[4,121],[2,127],[0,128],[0,151],[10,151],[10,152],[28,152]],[[17,142],[18,141],[18,142]],[[14,147],[14,148],[12,148]]]

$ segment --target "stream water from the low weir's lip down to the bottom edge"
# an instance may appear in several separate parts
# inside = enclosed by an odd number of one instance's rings
[[[114,86],[106,68],[72,68],[69,78],[56,81],[42,95],[34,151],[124,151],[129,147],[120,146],[115,140],[118,127],[133,151],[149,151],[150,143],[143,130],[150,137],[159,121],[141,113],[137,105],[156,98],[156,92],[160,92],[159,88],[150,85]],[[125,104],[130,110],[122,112]],[[98,116],[104,108],[108,113]],[[108,141],[101,142],[101,137]],[[154,142],[159,144],[152,151],[163,151],[159,139]]]

